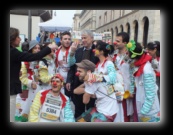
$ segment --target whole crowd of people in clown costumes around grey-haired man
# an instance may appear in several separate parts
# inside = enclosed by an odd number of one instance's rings
[[[160,121],[159,42],[146,52],[126,32],[114,45],[93,38],[81,31],[79,47],[63,32],[59,47],[31,40],[19,52],[19,30],[10,28],[11,122]]]

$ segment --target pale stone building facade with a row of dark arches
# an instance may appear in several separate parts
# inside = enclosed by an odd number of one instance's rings
[[[80,30],[111,32],[111,42],[122,31],[144,46],[153,40],[160,41],[160,10],[82,10],[79,20]]]

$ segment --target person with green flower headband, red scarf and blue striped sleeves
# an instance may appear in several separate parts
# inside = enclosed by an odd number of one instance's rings
[[[136,107],[139,122],[159,122],[160,106],[157,96],[156,75],[152,57],[144,52],[140,43],[130,40],[126,44],[130,64],[130,93],[136,89]],[[134,96],[134,95],[130,95]]]

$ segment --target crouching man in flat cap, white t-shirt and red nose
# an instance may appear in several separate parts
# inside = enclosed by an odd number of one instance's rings
[[[109,62],[111,63],[111,61],[107,61],[107,64]],[[101,63],[101,65],[103,65],[103,63]],[[105,63],[105,66],[107,64]],[[113,122],[119,108],[113,87],[106,82],[106,80],[110,80],[109,77],[106,78],[105,75],[105,78],[103,78],[102,75],[95,74],[94,70],[96,65],[87,59],[82,60],[80,63],[76,63],[76,65],[76,74],[80,81],[84,81],[84,84],[74,89],[74,93],[83,94],[84,104],[87,104],[90,98],[96,98],[95,106],[82,113],[76,121]],[[111,68],[111,66],[109,68]]]

